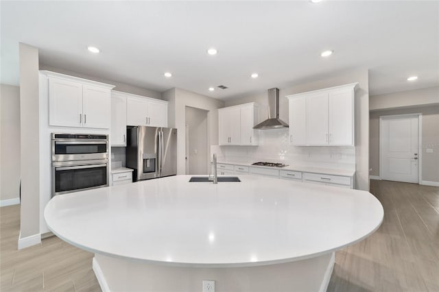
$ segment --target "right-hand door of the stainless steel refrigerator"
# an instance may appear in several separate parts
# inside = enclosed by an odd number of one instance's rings
[[[159,134],[159,161],[160,177],[177,174],[177,129],[161,127]]]

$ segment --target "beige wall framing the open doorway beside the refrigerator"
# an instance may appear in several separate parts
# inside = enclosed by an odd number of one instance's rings
[[[207,110],[207,141],[209,145],[218,143],[218,108],[224,107],[224,101],[206,95],[193,93],[182,88],[172,88],[162,93],[169,101],[169,127],[177,128],[177,174],[185,174],[185,122],[186,106]],[[209,151],[210,152],[210,151]],[[210,153],[209,153],[210,156]]]

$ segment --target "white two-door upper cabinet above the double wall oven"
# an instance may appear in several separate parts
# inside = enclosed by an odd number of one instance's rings
[[[49,80],[49,125],[110,127],[110,92],[114,86],[41,71]]]

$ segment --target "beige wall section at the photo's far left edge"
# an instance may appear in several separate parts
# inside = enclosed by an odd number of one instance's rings
[[[0,200],[20,195],[20,88],[0,84]]]

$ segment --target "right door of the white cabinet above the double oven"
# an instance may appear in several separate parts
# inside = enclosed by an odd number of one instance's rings
[[[110,89],[89,85],[82,88],[82,126],[108,129],[111,114]]]

